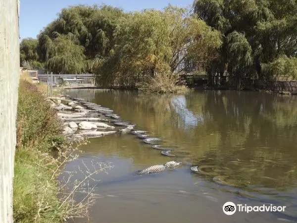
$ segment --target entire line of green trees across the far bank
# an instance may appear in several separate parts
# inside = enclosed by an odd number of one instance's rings
[[[137,88],[158,73],[207,74],[210,84],[227,74],[238,88],[246,78],[292,79],[296,12],[297,2],[284,0],[195,0],[190,9],[141,12],[75,5],[63,8],[37,40],[23,40],[21,61],[52,72],[95,73],[106,87]]]

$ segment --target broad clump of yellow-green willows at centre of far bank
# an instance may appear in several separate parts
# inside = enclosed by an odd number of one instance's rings
[[[184,71],[189,59],[197,66],[213,59],[222,43],[220,33],[188,14],[169,5],[120,19],[115,45],[96,71],[98,82],[134,87],[160,73],[170,79],[168,73]]]

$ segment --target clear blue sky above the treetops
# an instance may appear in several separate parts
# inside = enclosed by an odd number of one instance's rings
[[[120,7],[125,11],[142,10],[144,8],[163,9],[169,3],[177,6],[188,6],[193,0],[20,0],[20,37],[36,38],[39,32],[64,7],[74,4],[108,4]]]

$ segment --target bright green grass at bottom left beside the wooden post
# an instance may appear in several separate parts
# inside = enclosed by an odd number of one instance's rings
[[[57,184],[50,185],[44,193],[52,174],[53,165],[46,162],[36,151],[21,149],[15,154],[13,178],[13,220],[15,223],[60,222],[60,214],[56,211],[60,205],[57,198]],[[48,207],[39,210],[41,199],[47,201]]]

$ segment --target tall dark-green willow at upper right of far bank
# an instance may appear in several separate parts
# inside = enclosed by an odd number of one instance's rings
[[[209,75],[223,75],[228,70],[237,79],[248,73],[261,80],[270,80],[272,73],[262,72],[265,64],[273,63],[281,55],[297,55],[296,0],[195,0],[193,6],[195,15],[225,37],[219,59],[213,62]],[[241,41],[237,41],[237,47],[251,49],[247,54],[242,52],[241,61],[238,61],[240,72],[233,69],[234,57],[229,57],[230,46],[227,46],[230,45],[228,35],[235,31],[243,35]],[[242,62],[242,59],[246,61]],[[233,64],[231,70],[227,64]],[[247,64],[252,65],[251,69]]]

